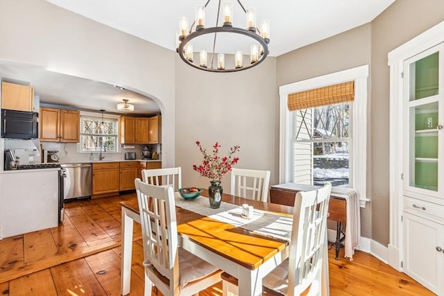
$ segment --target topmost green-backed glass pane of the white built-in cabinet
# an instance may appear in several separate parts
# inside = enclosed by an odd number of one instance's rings
[[[438,52],[410,64],[410,101],[438,94]]]

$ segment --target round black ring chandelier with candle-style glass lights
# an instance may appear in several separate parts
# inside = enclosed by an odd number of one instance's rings
[[[207,28],[205,10],[210,1],[196,6],[191,26],[187,17],[180,17],[176,38],[176,51],[180,58],[191,67],[212,72],[241,71],[263,62],[268,55],[270,21],[263,19],[257,26],[255,8],[245,9],[237,0],[245,13],[246,25],[245,28],[236,28],[233,26],[233,1],[223,1],[221,6],[219,0],[216,26]],[[222,26],[219,26],[219,21]],[[198,60],[194,58],[195,52],[198,53]],[[249,60],[244,61],[244,55],[248,53]]]

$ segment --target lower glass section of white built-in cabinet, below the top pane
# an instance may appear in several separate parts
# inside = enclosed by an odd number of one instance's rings
[[[438,191],[438,102],[410,108],[410,186]]]

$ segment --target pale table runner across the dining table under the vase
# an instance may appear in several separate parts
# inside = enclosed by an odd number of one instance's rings
[[[185,200],[178,192],[174,193],[176,206],[193,211],[202,216],[241,227],[257,234],[280,238],[290,242],[293,217],[280,216],[268,211],[254,209],[253,218],[243,218],[242,208],[236,204],[221,202],[219,209],[212,209],[208,198],[199,196],[195,200]]]

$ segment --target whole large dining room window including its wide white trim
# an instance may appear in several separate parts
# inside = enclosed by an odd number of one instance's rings
[[[368,65],[330,73],[325,76],[310,78],[279,87],[280,95],[280,153],[279,153],[279,182],[305,182],[316,184],[323,182],[322,177],[333,172],[323,171],[320,163],[327,162],[322,158],[336,157],[336,186],[348,182],[348,187],[359,193],[360,206],[365,207],[366,201],[366,164],[367,164],[367,79]],[[301,100],[302,94],[308,94],[313,89],[327,88],[345,82],[354,83],[353,102],[328,103],[312,105]],[[289,105],[307,103],[290,111]],[[319,108],[318,106],[324,105]],[[327,116],[327,108],[332,108]],[[330,123],[327,126],[327,117]],[[334,123],[336,122],[336,123]],[[311,125],[311,126],[310,126]],[[298,127],[300,128],[298,134]],[[303,151],[304,145],[306,150]],[[305,153],[305,155],[304,155]],[[301,159],[297,159],[300,157]],[[305,157],[305,158],[304,158]],[[348,168],[347,160],[348,159]],[[310,163],[311,162],[311,163]],[[315,164],[317,162],[317,164]],[[298,163],[297,166],[294,164]],[[305,170],[305,172],[303,172]],[[303,176],[305,175],[305,177]],[[328,176],[328,175],[327,175]],[[304,179],[305,178],[305,179]],[[348,179],[348,180],[347,180]]]

